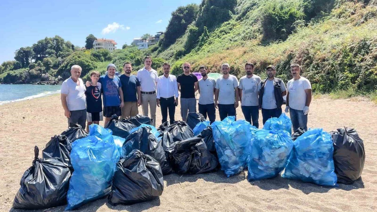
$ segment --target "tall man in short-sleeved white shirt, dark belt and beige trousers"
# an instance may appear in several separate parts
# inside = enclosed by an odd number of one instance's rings
[[[137,73],[140,81],[141,89],[141,106],[143,108],[143,115],[148,116],[148,105],[150,108],[150,118],[152,125],[156,126],[156,106],[157,106],[157,78],[158,74],[155,69],[152,69],[152,58],[147,56],[144,58],[144,68]]]

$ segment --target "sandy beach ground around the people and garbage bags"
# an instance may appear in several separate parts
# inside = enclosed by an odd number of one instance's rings
[[[244,118],[240,107],[237,113]],[[158,108],[158,124],[160,114]],[[179,114],[177,108],[176,119]],[[0,126],[0,211],[20,211],[12,209],[12,202],[23,172],[31,166],[34,146],[43,149],[51,136],[67,128],[60,96],[1,105]],[[332,131],[343,126],[357,129],[365,145],[362,179],[351,185],[321,187],[282,177],[249,183],[247,171],[230,178],[222,171],[171,174],[164,177],[164,192],[154,201],[113,207],[103,198],[77,211],[377,211],[377,107],[363,98],[313,100],[308,127]],[[64,211],[64,207],[38,211]]]

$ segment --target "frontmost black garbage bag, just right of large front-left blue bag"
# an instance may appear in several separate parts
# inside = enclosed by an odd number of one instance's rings
[[[109,203],[135,204],[161,196],[164,179],[159,163],[134,149],[116,164]]]

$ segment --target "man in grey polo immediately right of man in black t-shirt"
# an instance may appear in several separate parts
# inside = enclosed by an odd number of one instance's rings
[[[213,95],[215,94],[216,80],[208,77],[207,69],[205,66],[200,66],[199,71],[202,77],[199,84],[199,113],[204,116],[205,119],[210,120],[211,124],[216,120],[215,101],[213,101]]]

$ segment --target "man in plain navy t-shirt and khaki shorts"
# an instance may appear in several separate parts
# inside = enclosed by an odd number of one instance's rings
[[[132,65],[129,62],[123,65],[124,74],[120,75],[122,83],[124,106],[122,108],[122,118],[130,118],[138,115],[138,106],[141,105],[140,81],[136,75],[131,74]],[[137,96],[136,96],[137,94]]]

